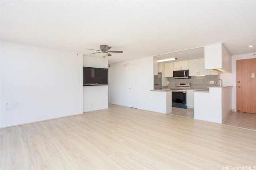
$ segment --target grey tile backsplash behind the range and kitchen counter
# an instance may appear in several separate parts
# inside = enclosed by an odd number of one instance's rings
[[[192,89],[206,89],[209,86],[216,86],[216,84],[210,84],[210,81],[215,81],[220,78],[220,75],[212,76],[192,76],[189,79],[175,79],[173,77],[168,77],[168,88],[174,88],[175,83],[191,83]]]

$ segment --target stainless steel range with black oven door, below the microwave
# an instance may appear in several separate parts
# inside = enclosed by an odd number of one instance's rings
[[[176,83],[172,90],[172,107],[187,108],[186,89],[191,89],[191,83]]]

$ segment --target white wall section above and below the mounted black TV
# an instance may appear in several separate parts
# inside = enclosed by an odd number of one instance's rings
[[[108,68],[108,59],[84,55],[83,65],[86,67]],[[107,109],[108,86],[84,86],[83,101],[84,112]]]

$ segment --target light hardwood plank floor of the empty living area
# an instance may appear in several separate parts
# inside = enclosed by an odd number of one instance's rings
[[[0,129],[0,137],[1,170],[256,166],[256,131],[116,105]]]

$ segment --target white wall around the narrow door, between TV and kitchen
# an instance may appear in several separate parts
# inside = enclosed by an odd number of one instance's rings
[[[138,109],[156,110],[154,103],[153,57],[110,64],[109,103],[129,107],[129,66],[138,68]]]

